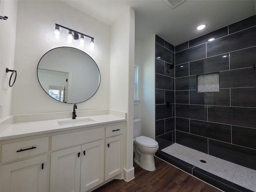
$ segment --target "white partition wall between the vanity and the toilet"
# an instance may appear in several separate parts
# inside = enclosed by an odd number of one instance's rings
[[[110,109],[127,112],[124,138],[124,179],[134,178],[133,82],[135,12],[129,8],[111,26]]]

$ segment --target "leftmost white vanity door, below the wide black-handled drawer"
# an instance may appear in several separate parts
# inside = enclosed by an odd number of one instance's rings
[[[48,191],[46,166],[47,155],[1,166],[1,191]]]

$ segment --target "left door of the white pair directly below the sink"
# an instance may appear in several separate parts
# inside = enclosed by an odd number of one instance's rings
[[[80,192],[81,146],[51,154],[50,191]]]

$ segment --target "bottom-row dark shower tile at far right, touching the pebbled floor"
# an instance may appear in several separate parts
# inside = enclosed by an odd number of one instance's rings
[[[256,169],[256,150],[209,139],[209,154]]]

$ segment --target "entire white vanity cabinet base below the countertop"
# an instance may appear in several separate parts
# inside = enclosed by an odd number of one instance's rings
[[[0,144],[1,192],[87,192],[122,177],[124,120]]]

